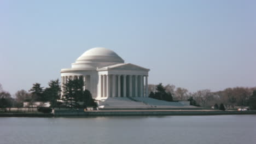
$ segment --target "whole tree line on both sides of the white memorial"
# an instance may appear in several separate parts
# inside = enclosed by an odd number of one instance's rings
[[[41,87],[40,83],[34,83],[28,92],[22,89],[16,92],[13,98],[9,92],[3,90],[0,83],[0,107],[22,107],[24,102],[33,104],[35,101],[49,101],[51,107],[96,106],[90,91],[83,89],[84,86],[82,77],[69,79],[63,86],[63,97],[61,98],[59,80],[51,80],[46,88]],[[189,92],[185,88],[176,88],[174,85],[163,86],[162,83],[159,83],[159,85],[148,85],[148,91],[150,98],[159,100],[189,100],[191,105],[203,107],[217,107],[217,105],[223,104],[228,109],[245,106],[256,109],[256,87],[226,88],[218,92],[211,92],[210,89]]]

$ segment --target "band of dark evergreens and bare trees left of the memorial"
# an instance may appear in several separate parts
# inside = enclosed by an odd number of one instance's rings
[[[30,90],[21,89],[16,92],[14,98],[7,91],[4,91],[0,83],[0,108],[22,107],[24,102],[33,105],[34,102],[50,102],[51,107],[87,107],[96,106],[94,99],[88,89],[83,89],[85,83],[82,77],[69,79],[63,86],[61,97],[61,86],[59,79],[50,80],[48,87],[44,88],[40,83],[34,83]]]

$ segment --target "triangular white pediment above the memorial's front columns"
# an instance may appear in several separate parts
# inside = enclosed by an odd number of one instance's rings
[[[139,67],[138,65],[131,64],[131,63],[123,63],[123,64],[115,64],[115,65],[109,65],[108,67],[105,67],[108,70],[146,70],[149,71],[147,68]]]

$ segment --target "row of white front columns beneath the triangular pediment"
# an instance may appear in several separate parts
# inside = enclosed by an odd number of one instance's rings
[[[147,75],[99,75],[99,97],[148,97]]]

